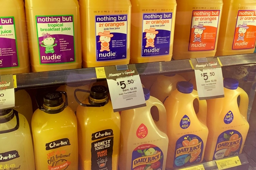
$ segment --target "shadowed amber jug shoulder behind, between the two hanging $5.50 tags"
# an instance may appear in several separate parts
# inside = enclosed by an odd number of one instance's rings
[[[162,103],[171,94],[171,92],[177,89],[176,84],[179,81],[186,81],[179,74],[166,74],[157,76],[157,80],[150,88],[151,96],[159,99]]]

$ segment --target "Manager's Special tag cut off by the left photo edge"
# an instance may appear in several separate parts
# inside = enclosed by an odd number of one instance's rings
[[[0,109],[15,106],[13,75],[0,76]]]

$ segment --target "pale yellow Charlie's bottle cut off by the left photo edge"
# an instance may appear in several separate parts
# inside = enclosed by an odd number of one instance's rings
[[[0,110],[0,169],[35,169],[26,118],[13,109]]]

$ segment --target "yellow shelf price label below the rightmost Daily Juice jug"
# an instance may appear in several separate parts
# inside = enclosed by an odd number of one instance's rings
[[[229,157],[229,158],[222,159],[222,160],[217,160],[216,164],[217,164],[219,170],[242,165],[238,156]]]

